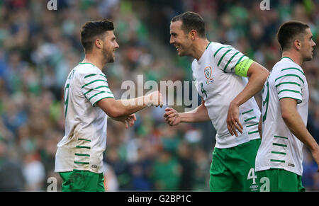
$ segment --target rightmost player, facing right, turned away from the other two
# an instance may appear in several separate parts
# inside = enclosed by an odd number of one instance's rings
[[[282,58],[272,68],[262,90],[262,142],[256,156],[261,191],[304,191],[303,144],[319,164],[319,147],[306,129],[308,84],[301,68],[313,59],[310,28],[299,21],[281,25],[277,40]]]

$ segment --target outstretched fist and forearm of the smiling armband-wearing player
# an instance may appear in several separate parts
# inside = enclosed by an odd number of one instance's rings
[[[164,118],[167,124],[171,126],[179,125],[181,122],[204,122],[211,120],[208,116],[207,108],[204,103],[205,102],[202,98],[201,105],[187,113],[177,113],[177,111],[173,108],[166,108]]]

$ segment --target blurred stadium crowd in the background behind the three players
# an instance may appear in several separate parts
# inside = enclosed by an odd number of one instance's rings
[[[271,69],[281,59],[276,30],[295,19],[310,25],[319,45],[319,1],[281,0],[261,10],[260,1],[43,0],[0,1],[0,191],[45,191],[54,173],[57,143],[64,135],[63,88],[82,62],[80,27],[111,19],[120,48],[103,69],[116,98],[125,80],[191,79],[191,61],[169,45],[169,21],[196,11],[208,40],[230,44]],[[319,142],[319,50],[306,62],[308,130]],[[146,92],[146,91],[145,91]],[[260,105],[260,97],[256,96]],[[170,105],[172,106],[172,105]],[[174,107],[174,106],[173,106]],[[183,110],[182,107],[174,107]],[[104,156],[107,191],[207,191],[215,130],[211,122],[169,127],[163,108],[137,113],[133,128],[108,120]],[[319,190],[317,166],[304,150],[303,184]]]

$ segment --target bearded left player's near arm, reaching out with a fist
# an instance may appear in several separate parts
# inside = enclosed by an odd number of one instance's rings
[[[109,117],[118,119],[136,113],[147,107],[147,105],[162,105],[162,94],[159,91],[154,91],[147,96],[140,96],[128,100],[103,98],[97,105]]]

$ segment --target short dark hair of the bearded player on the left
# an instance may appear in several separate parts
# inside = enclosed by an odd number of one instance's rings
[[[81,43],[84,47],[84,51],[91,51],[96,38],[100,37],[108,30],[114,30],[114,25],[111,21],[101,20],[86,22],[81,28]]]

